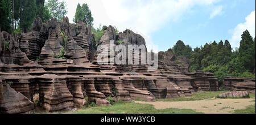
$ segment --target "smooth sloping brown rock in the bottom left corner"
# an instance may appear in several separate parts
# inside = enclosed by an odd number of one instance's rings
[[[34,113],[34,103],[0,77],[0,113]]]

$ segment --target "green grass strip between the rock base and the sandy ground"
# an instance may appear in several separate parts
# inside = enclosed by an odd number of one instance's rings
[[[218,94],[225,93],[227,91],[216,91],[216,92],[196,92],[192,97],[181,97],[181,98],[171,98],[171,99],[157,99],[156,101],[197,101],[206,100],[210,98],[217,97]]]

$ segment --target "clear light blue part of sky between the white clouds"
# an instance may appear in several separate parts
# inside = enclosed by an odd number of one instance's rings
[[[167,50],[177,40],[184,41],[192,48],[214,40],[231,41],[232,30],[245,22],[246,16],[255,10],[254,0],[225,0],[217,5],[222,6],[222,12],[214,18],[209,17],[208,8],[195,7],[193,12],[187,12],[179,21],[168,21],[164,27],[151,33],[154,43],[158,43],[160,50]]]

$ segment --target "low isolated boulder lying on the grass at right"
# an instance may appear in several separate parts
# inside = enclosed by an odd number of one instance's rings
[[[250,96],[247,91],[237,91],[219,94],[218,98],[250,98]]]

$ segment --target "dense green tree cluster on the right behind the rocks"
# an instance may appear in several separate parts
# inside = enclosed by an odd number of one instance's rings
[[[212,72],[220,81],[226,76],[255,78],[255,38],[247,30],[236,50],[232,50],[228,40],[213,41],[193,51],[191,46],[178,41],[173,50],[177,56],[189,58],[191,72]]]

